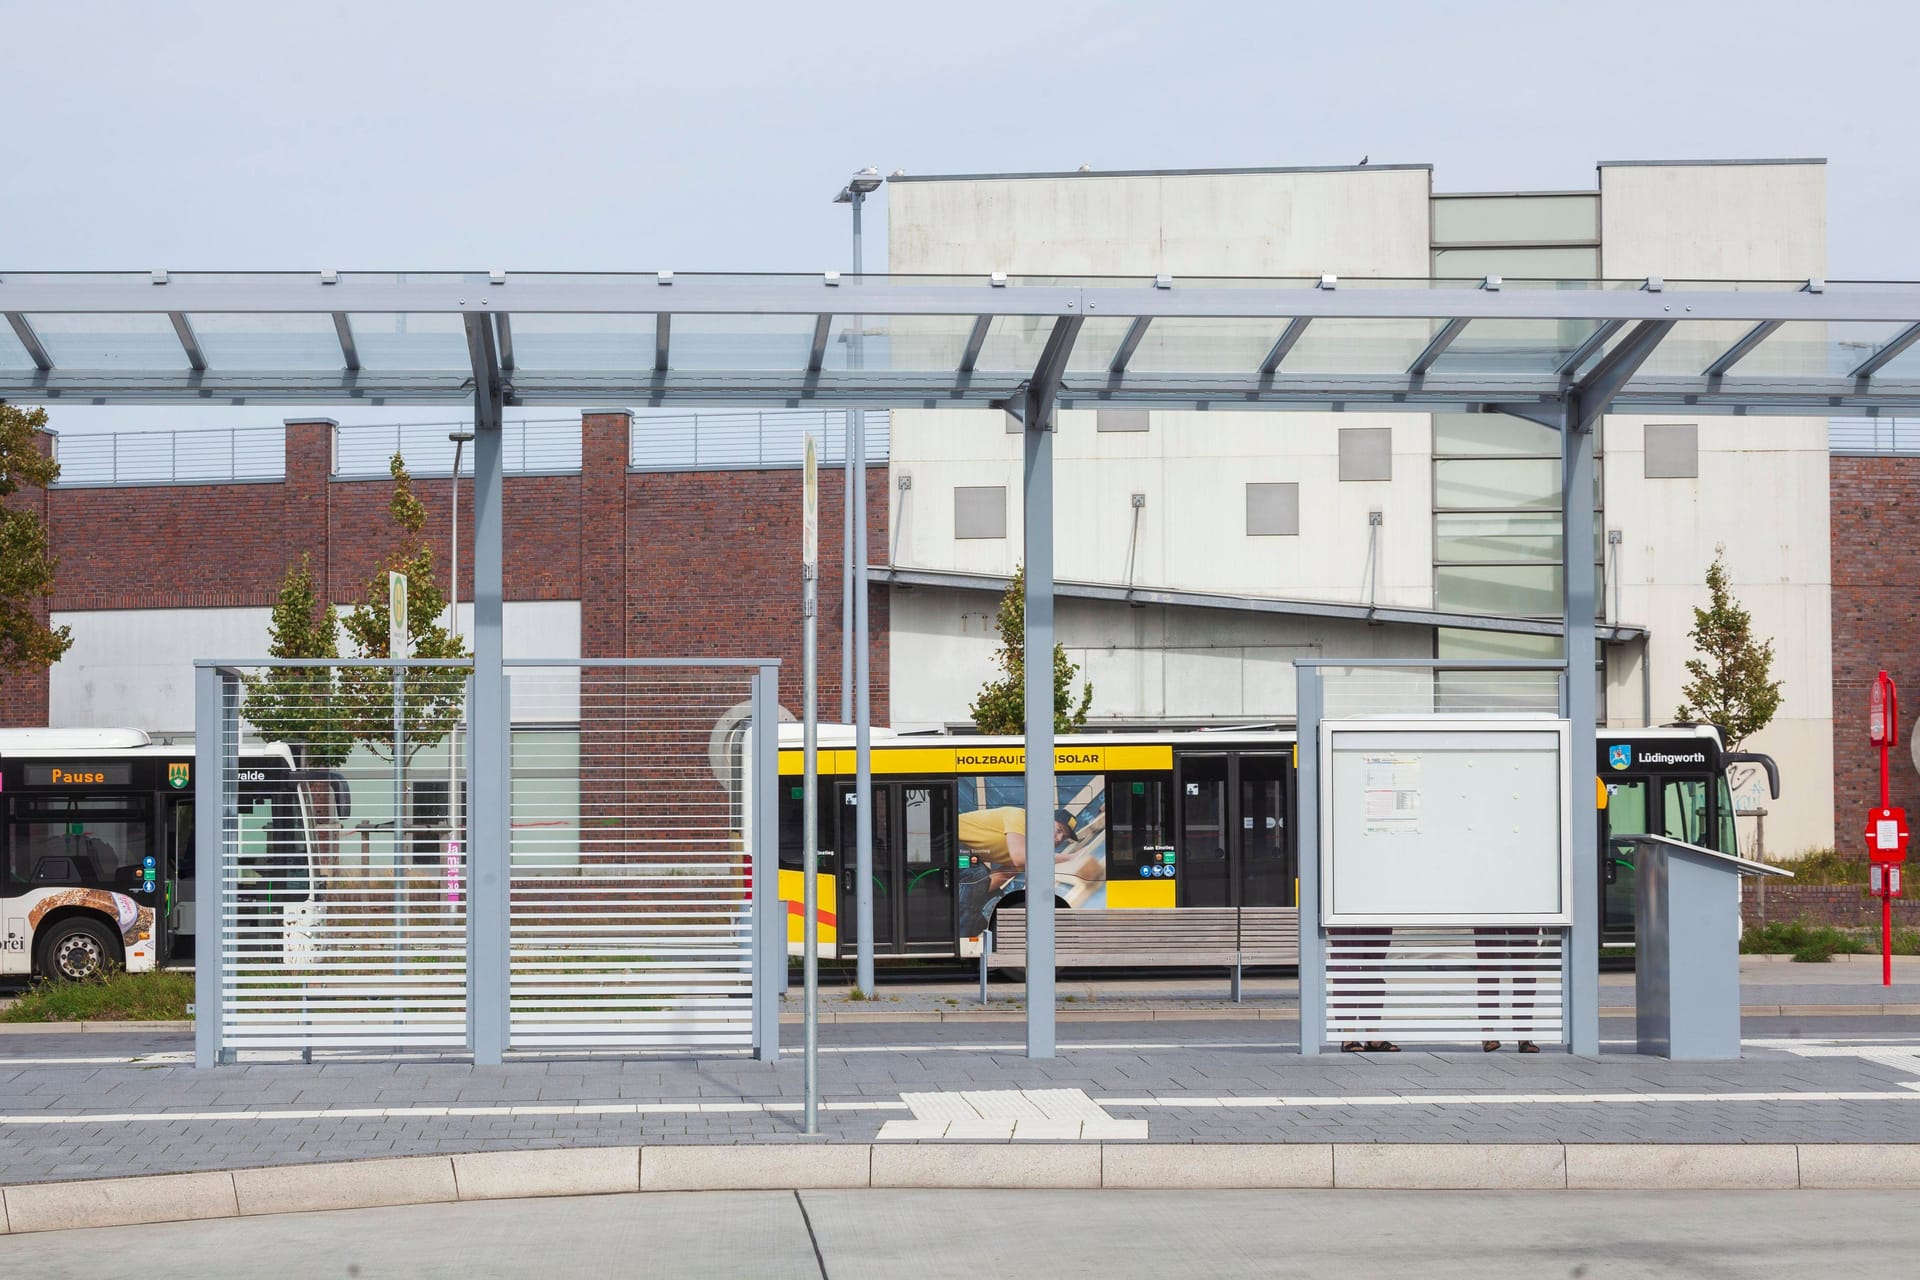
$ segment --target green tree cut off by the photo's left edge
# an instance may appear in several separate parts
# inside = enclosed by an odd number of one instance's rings
[[[44,409],[0,403],[0,677],[52,666],[73,645],[67,628],[44,616],[60,568],[46,524],[35,510],[6,505],[21,487],[44,489],[60,478],[60,462],[40,453],[44,426]]]

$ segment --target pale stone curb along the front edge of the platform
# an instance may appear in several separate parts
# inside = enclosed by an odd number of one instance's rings
[[[1920,1144],[862,1142],[490,1151],[6,1186],[0,1234],[503,1197],[822,1186],[1920,1190]]]

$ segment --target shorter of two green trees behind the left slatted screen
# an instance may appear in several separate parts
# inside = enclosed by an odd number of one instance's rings
[[[286,570],[267,624],[275,658],[338,658],[340,626],[313,587],[311,558]],[[286,743],[300,768],[332,768],[353,750],[351,725],[336,706],[340,670],[276,666],[246,681],[246,716],[263,737]]]

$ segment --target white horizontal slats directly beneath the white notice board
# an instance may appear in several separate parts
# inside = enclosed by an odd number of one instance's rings
[[[1565,1036],[1559,929],[1329,929],[1327,1040]]]

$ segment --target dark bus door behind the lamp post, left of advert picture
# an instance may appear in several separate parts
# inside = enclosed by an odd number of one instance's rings
[[[833,787],[839,814],[839,954],[858,940],[852,783]],[[874,954],[950,952],[954,946],[954,785],[874,781]]]

